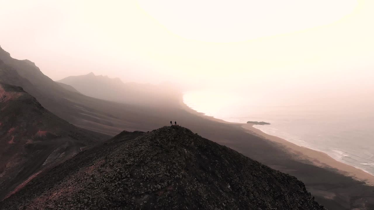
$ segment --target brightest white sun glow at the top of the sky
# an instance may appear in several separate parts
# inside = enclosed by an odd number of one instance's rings
[[[242,41],[335,22],[356,0],[139,0],[170,31],[203,41]]]

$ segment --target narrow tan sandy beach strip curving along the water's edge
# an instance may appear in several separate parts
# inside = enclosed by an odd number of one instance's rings
[[[315,166],[322,167],[322,168],[331,168],[338,170],[339,173],[341,173],[344,176],[350,176],[353,177],[356,180],[365,182],[367,185],[374,186],[374,176],[358,169],[354,166],[350,166],[348,164],[342,163],[338,160],[335,160],[334,158],[330,157],[328,154],[320,151],[316,151],[310,148],[306,148],[303,146],[295,145],[294,143],[291,143],[285,139],[279,138],[277,136],[272,136],[267,133],[262,132],[260,129],[257,129],[254,126],[254,124],[250,123],[232,123],[227,122],[218,118],[214,118],[212,116],[207,116],[202,112],[198,112],[189,106],[187,106],[183,99],[180,101],[181,107],[191,114],[199,115],[200,117],[203,117],[208,120],[220,122],[220,123],[226,123],[226,124],[236,124],[240,126],[243,130],[245,130],[246,133],[249,133],[251,135],[255,135],[261,139],[270,140],[272,142],[278,143],[283,146],[283,149],[286,150],[286,152],[290,152],[294,154],[296,160],[308,160],[312,162]]]

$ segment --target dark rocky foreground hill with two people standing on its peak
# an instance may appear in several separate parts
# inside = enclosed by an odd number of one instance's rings
[[[137,136],[140,136],[136,138]],[[323,209],[293,176],[180,127],[123,132],[34,179],[0,209]]]

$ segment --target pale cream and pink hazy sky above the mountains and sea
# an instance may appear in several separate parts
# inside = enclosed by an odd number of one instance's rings
[[[0,0],[0,46],[53,80],[344,92],[373,87],[373,11],[372,0]]]

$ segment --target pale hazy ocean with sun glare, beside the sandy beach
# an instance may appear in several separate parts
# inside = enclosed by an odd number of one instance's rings
[[[326,100],[278,103],[252,99],[248,92],[216,90],[188,91],[183,100],[190,108],[225,121],[271,123],[254,127],[374,175],[374,104],[337,99],[334,106]]]

